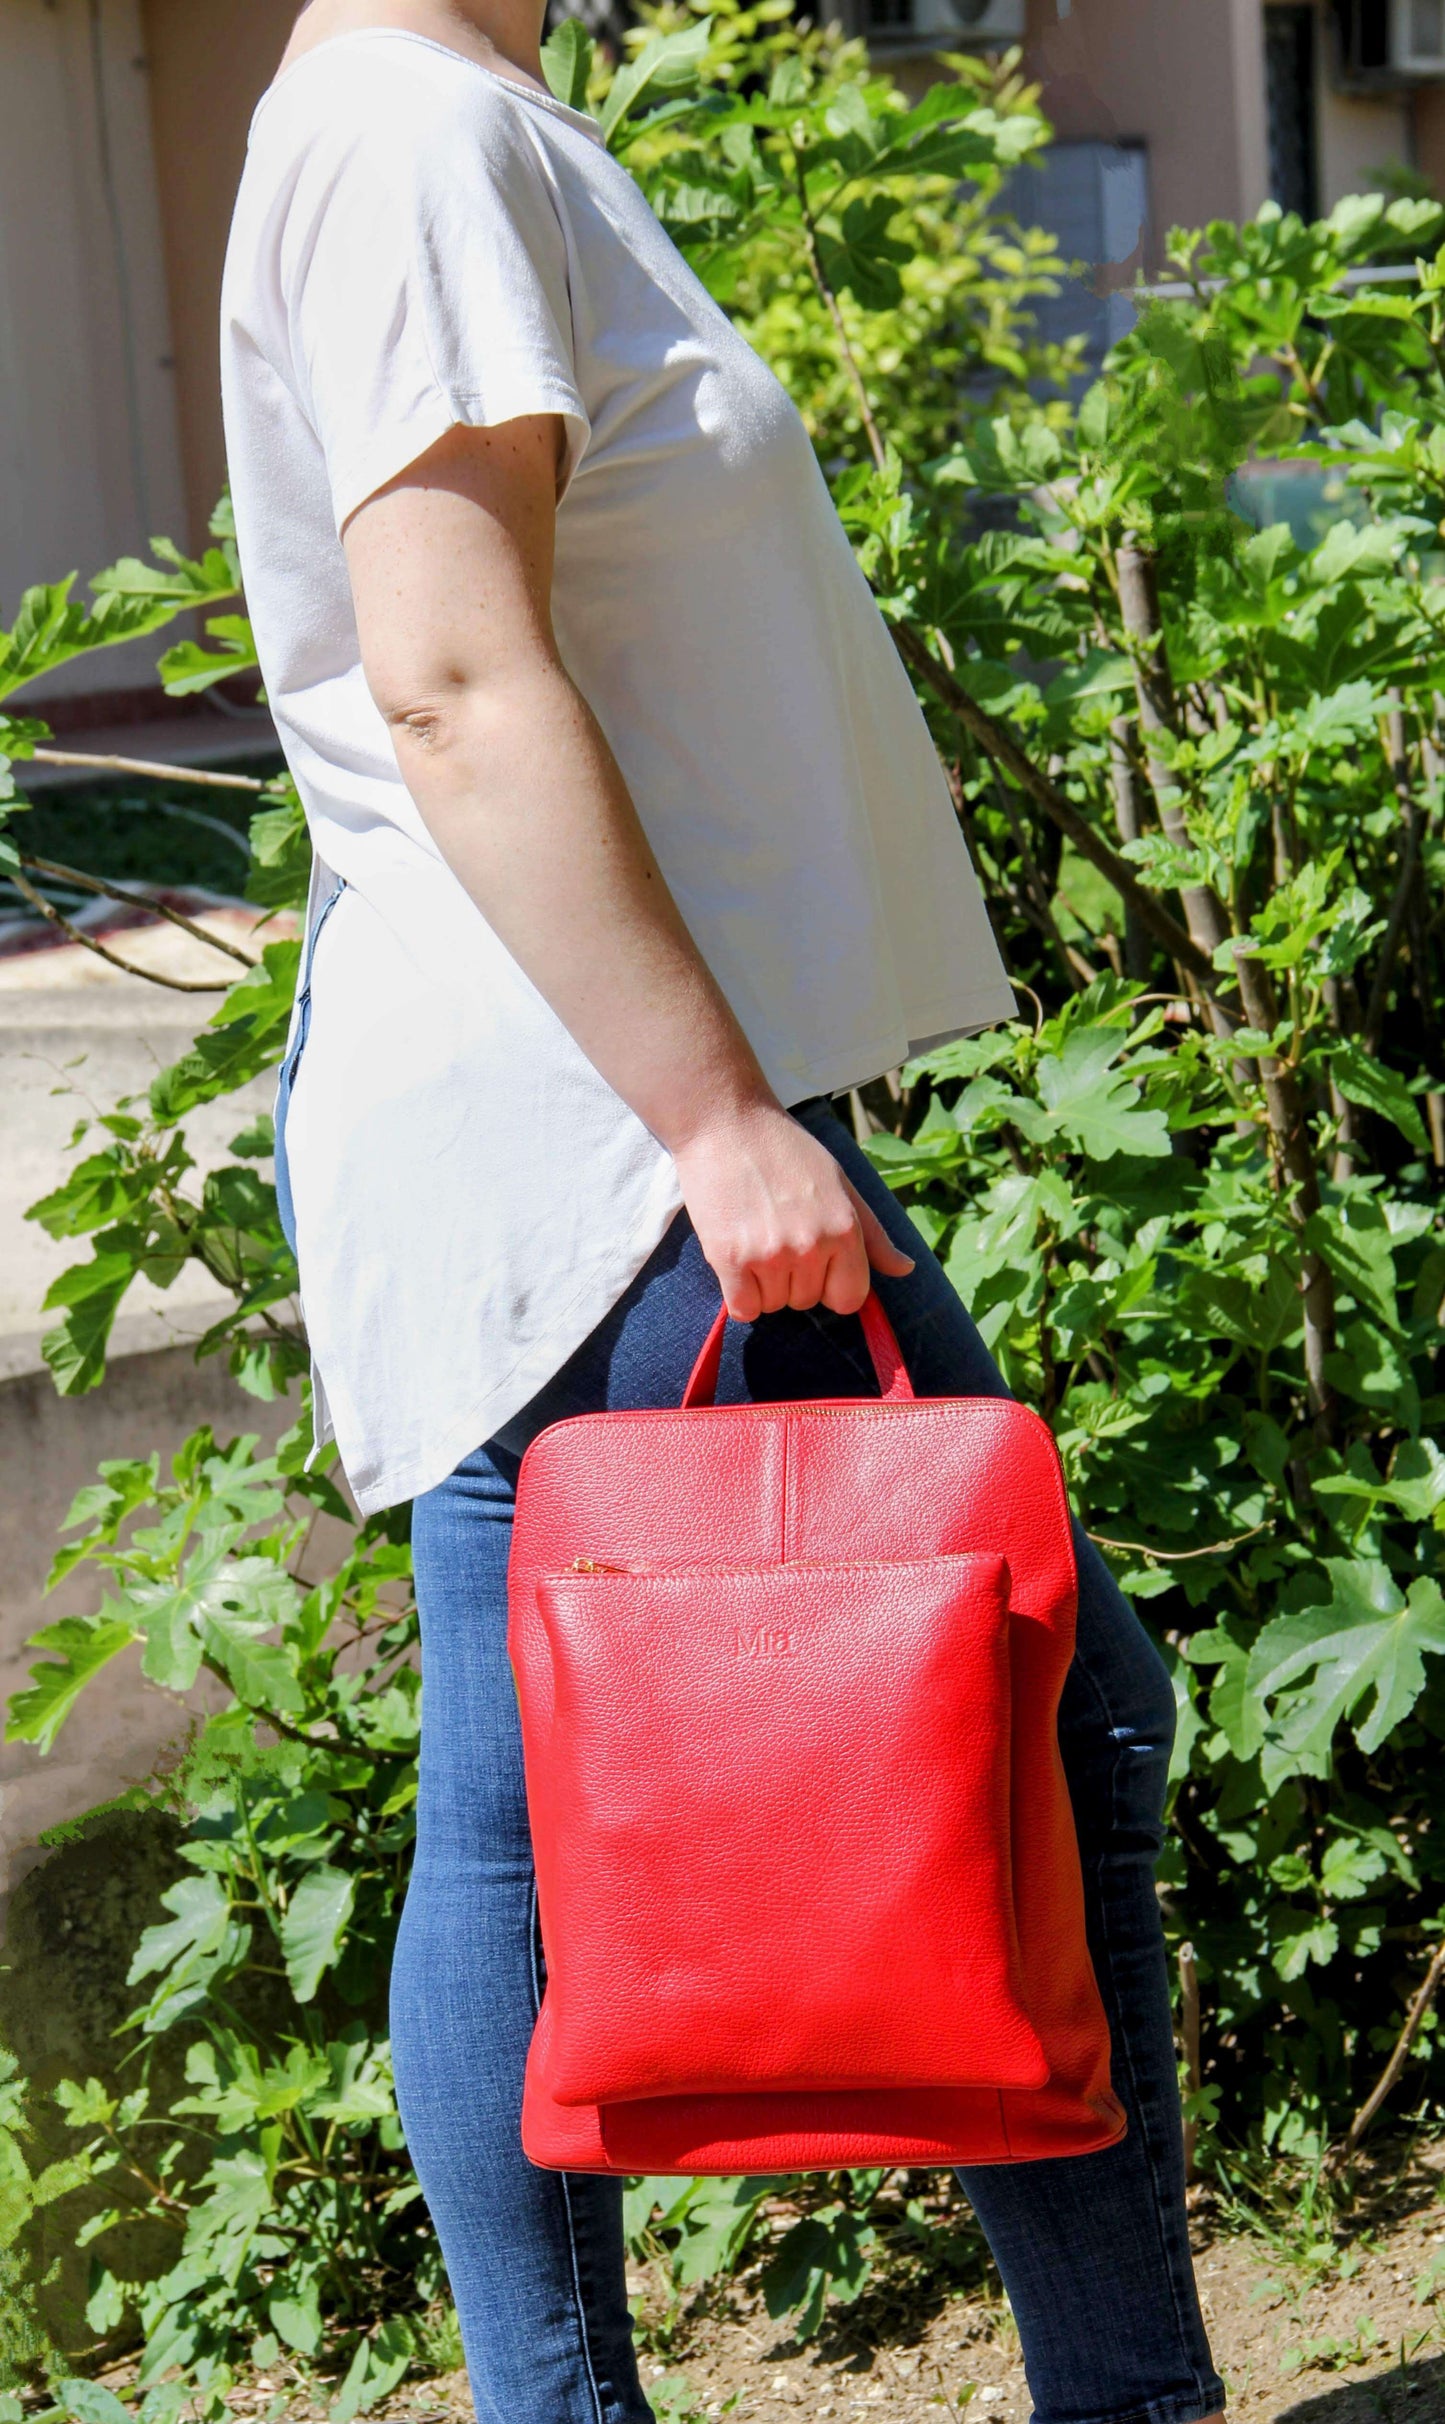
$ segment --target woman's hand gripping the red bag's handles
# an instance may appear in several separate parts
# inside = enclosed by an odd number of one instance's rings
[[[870,1268],[892,1280],[914,1268],[827,1147],[776,1103],[708,1120],[672,1156],[735,1321],[786,1304],[856,1314]]]

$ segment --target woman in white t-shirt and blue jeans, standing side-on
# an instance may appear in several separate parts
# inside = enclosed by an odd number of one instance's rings
[[[829,1096],[1011,1013],[948,793],[803,424],[594,124],[538,0],[313,0],[223,293],[247,599],[318,856],[279,1093],[322,1428],[415,1498],[424,1733],[393,1973],[482,2424],[640,2424],[618,2184],[531,2169],[538,1939],[504,1648],[526,1442],[1001,1391]],[[1152,1888],[1173,1702],[1081,1539],[1062,1745],[1130,2133],[972,2169],[1040,2417],[1220,2407]]]

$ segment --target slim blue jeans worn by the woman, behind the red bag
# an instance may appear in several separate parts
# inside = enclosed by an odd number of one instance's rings
[[[822,1100],[798,1113],[916,1256],[878,1292],[919,1396],[1004,1396],[970,1316],[907,1214]],[[606,1321],[412,1515],[422,1612],[417,1859],[390,1988],[407,2145],[441,2237],[478,2424],[645,2424],[616,2179],[521,2153],[521,2070],[541,1995],[536,1886],[507,1547],[529,1440],[570,1413],[676,1406],[718,1309],[686,1214]],[[870,1396],[856,1321],[730,1326],[718,1403]],[[972,2167],[1040,2424],[1198,2424],[1222,2405],[1183,2211],[1183,2145],[1154,1900],[1173,1692],[1079,1532],[1079,1643],[1060,1743],[1084,1857],[1089,1942],[1127,2138],[1098,2155]]]

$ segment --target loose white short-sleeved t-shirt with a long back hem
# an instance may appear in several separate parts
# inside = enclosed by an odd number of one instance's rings
[[[262,674],[347,882],[286,1144],[371,1513],[509,1420],[679,1207],[439,856],[361,674],[337,533],[449,427],[562,415],[558,645],[783,1103],[1013,996],[807,431],[592,119],[417,34],[303,53],[252,121],[221,354]]]

